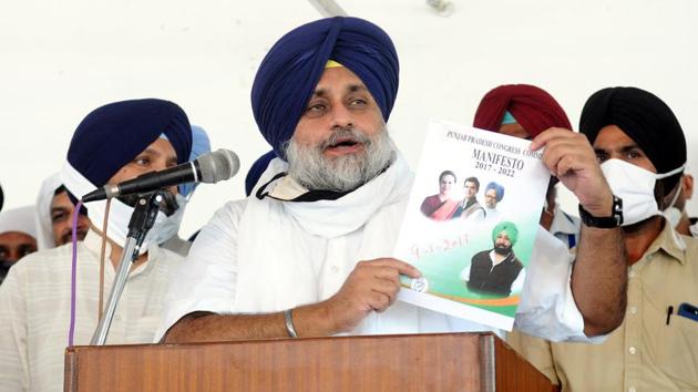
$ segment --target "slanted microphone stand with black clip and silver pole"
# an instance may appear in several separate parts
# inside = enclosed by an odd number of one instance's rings
[[[124,245],[123,252],[121,254],[121,260],[119,261],[119,270],[116,271],[116,277],[114,278],[114,285],[112,286],[112,291],[109,295],[106,311],[102,316],[97,328],[94,330],[94,334],[90,341],[90,344],[92,345],[104,345],[104,342],[106,341],[106,334],[109,333],[112,319],[116,312],[119,299],[121,298],[121,293],[124,291],[124,286],[126,286],[129,270],[131,269],[133,261],[138,257],[138,250],[145,239],[145,235],[155,223],[160,205],[163,202],[163,192],[164,190],[156,190],[150,194],[140,195],[138,197],[135,210],[131,215],[131,220],[129,221],[129,235],[126,236],[126,244]]]

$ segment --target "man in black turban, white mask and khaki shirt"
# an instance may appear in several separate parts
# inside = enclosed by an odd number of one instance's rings
[[[698,390],[698,322],[676,314],[680,303],[698,303],[698,239],[678,234],[663,212],[677,203],[685,169],[678,120],[651,93],[604,89],[584,106],[579,131],[623,198],[626,317],[603,344],[538,341],[520,352],[563,391]]]

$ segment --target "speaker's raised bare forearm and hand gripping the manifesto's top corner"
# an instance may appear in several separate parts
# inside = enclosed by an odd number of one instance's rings
[[[581,206],[595,217],[612,216],[613,194],[586,137],[568,130],[550,128],[533,140],[531,149],[543,146],[543,162],[575,194]],[[608,333],[623,322],[626,268],[619,227],[582,226],[571,285],[587,337]]]

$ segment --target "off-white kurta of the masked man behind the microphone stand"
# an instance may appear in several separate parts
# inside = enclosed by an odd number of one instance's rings
[[[94,231],[78,243],[76,345],[89,344],[97,326],[100,247]],[[71,255],[70,244],[31,254],[0,285],[0,391],[63,391]],[[148,248],[147,261],[127,278],[107,344],[153,341],[166,289],[183,261],[157,246]],[[106,301],[115,271],[109,260],[104,270]]]

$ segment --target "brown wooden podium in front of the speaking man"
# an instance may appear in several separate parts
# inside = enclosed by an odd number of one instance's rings
[[[556,391],[492,333],[74,347],[65,391]]]

